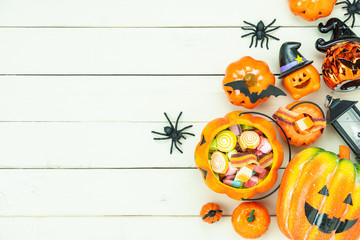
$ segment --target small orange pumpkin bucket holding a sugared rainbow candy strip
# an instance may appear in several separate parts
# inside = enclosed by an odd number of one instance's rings
[[[290,115],[292,113],[294,114]],[[305,119],[306,117],[311,120],[311,127],[305,127],[304,130],[299,129],[296,121],[301,121],[301,119]],[[290,103],[286,106],[285,111],[279,108],[273,115],[273,118],[277,119],[279,125],[284,129],[289,143],[297,147],[308,146],[316,142],[322,136],[326,126],[322,110],[312,102],[295,101]],[[291,118],[293,118],[293,121]],[[300,123],[302,124],[302,122],[299,122],[299,124]],[[285,139],[282,132],[281,136]]]

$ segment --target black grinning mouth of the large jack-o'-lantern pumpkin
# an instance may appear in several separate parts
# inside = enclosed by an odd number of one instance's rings
[[[312,226],[317,226],[320,232],[330,234],[336,230],[335,233],[342,233],[349,230],[358,219],[340,221],[340,218],[329,218],[326,213],[319,213],[319,210],[312,207],[310,204],[305,202],[305,216]]]

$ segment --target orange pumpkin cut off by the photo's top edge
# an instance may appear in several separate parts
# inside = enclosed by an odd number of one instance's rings
[[[329,16],[337,0],[289,0],[292,13],[306,21]]]

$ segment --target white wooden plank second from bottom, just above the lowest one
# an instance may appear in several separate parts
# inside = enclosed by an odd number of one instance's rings
[[[197,169],[0,170],[0,193],[0,216],[198,216],[206,202],[231,215],[239,204]],[[275,215],[276,198],[259,202]]]

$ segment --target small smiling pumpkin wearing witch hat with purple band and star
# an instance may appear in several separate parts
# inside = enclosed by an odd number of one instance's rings
[[[298,52],[300,46],[299,42],[286,42],[281,46],[279,54],[279,78],[284,78],[284,87],[295,100],[320,88],[320,75],[311,65],[312,61],[305,59]]]

